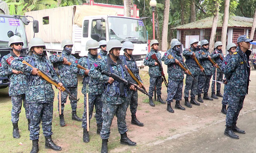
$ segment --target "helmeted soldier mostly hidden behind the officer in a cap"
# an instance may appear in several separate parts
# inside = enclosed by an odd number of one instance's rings
[[[228,52],[228,54],[227,54],[227,56],[223,59],[222,67],[221,67],[222,72],[224,72],[224,70],[225,70],[225,68],[226,68],[226,65],[228,64],[228,61],[229,61],[231,55],[232,55],[234,52],[236,52],[236,48],[237,48],[237,46],[236,46],[236,44],[234,44],[234,43],[230,43],[230,44],[227,45],[227,52]],[[226,77],[225,77],[224,80],[225,80],[225,81],[224,81],[224,84],[225,84],[225,85],[224,85],[224,93],[223,93],[223,99],[222,99],[222,109],[221,109],[221,112],[226,115],[226,114],[227,114],[226,106],[227,106],[227,104],[228,104],[228,96],[227,96],[227,94],[226,94],[226,92],[227,92],[227,85],[226,85],[226,84],[227,84],[228,80],[226,79]]]

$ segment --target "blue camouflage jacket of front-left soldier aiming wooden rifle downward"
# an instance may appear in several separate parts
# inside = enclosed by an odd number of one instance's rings
[[[11,64],[11,67],[27,74],[28,87],[26,91],[26,100],[28,103],[53,102],[54,90],[52,88],[52,84],[45,81],[42,77],[38,77],[38,75],[32,75],[32,68],[26,64],[23,64],[23,60],[31,64],[33,67],[44,71],[57,83],[59,83],[59,78],[55,73],[51,62],[48,61],[44,55],[38,56],[32,54],[31,56],[14,60]]]

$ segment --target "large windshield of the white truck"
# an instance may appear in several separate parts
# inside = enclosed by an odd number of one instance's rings
[[[146,31],[142,20],[124,17],[108,17],[109,39],[146,43]]]

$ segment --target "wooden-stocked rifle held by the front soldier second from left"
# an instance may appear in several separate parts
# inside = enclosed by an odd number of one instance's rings
[[[22,63],[23,63],[23,64],[26,64],[26,65],[28,65],[28,66],[30,66],[30,67],[32,67],[32,68],[34,68],[32,65],[28,64],[26,61],[22,61]],[[66,94],[68,94],[71,98],[73,98],[73,99],[76,100],[76,101],[79,101],[79,99],[76,99],[76,98],[71,94],[71,92],[68,90],[68,88],[65,88],[65,87],[64,87],[64,84],[63,84],[63,86],[58,85],[58,83],[57,83],[55,80],[53,80],[52,77],[50,77],[47,73],[45,73],[45,72],[42,71],[42,70],[39,70],[38,73],[39,73],[40,77],[42,77],[45,81],[47,81],[47,82],[49,82],[49,83],[55,85],[57,88],[60,87],[60,88],[61,88],[61,91],[66,92]],[[61,111],[61,110],[60,110],[60,111]]]

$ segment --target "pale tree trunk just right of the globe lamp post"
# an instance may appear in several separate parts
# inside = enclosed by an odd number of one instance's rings
[[[167,51],[168,45],[168,23],[169,23],[170,0],[165,0],[165,10],[163,12],[163,26],[162,26],[162,51]]]

